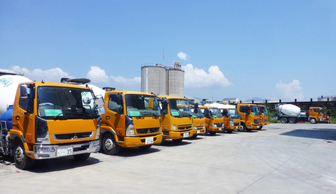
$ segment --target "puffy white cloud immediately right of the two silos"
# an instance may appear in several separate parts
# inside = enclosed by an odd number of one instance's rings
[[[184,68],[184,85],[190,87],[207,87],[220,85],[226,87],[232,85],[219,70],[218,66],[211,66],[207,73],[203,69],[193,68],[192,64],[183,66]]]

